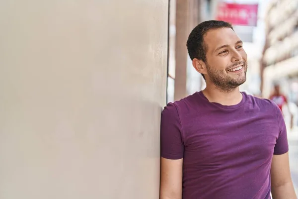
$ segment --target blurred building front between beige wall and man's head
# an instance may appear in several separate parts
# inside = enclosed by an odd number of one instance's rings
[[[218,0],[170,0],[167,101],[201,89],[203,78],[192,67],[186,41],[200,22],[214,18]]]

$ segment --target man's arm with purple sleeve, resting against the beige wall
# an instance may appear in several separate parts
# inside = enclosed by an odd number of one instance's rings
[[[160,154],[160,199],[182,199],[183,129],[173,103],[162,111]]]

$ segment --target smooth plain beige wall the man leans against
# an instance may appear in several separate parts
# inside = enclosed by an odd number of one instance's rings
[[[0,199],[158,199],[167,0],[0,2]]]

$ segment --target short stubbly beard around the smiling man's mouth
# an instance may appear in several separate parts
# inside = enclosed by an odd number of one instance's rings
[[[229,66],[228,68],[243,64],[243,73],[235,74],[235,77],[231,77],[227,74],[225,70],[217,70],[214,67],[210,67],[208,63],[206,63],[206,69],[210,81],[221,91],[225,93],[230,93],[235,90],[238,86],[242,85],[246,81],[246,71],[247,71],[247,62],[238,62]]]

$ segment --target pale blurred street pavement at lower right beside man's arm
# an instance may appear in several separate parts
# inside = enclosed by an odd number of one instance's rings
[[[298,130],[288,133],[288,142],[292,181],[298,195]]]

